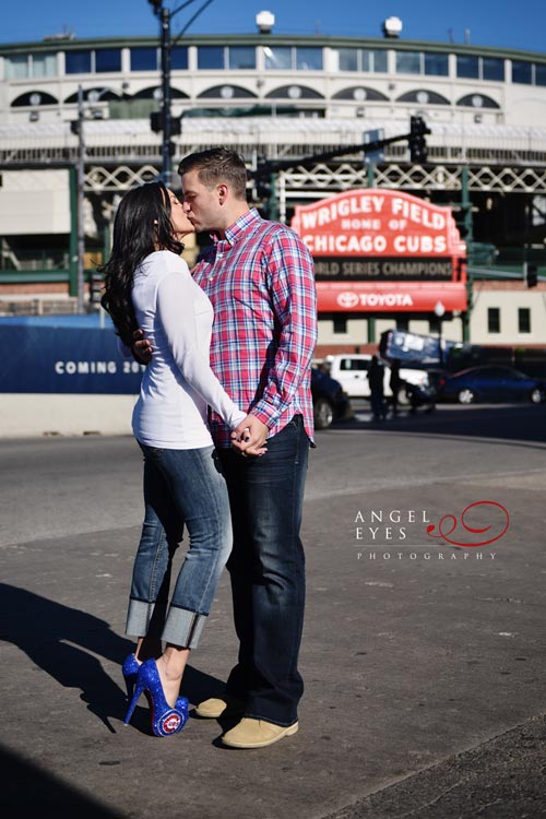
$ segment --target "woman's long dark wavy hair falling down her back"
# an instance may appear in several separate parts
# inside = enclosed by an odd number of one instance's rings
[[[100,304],[128,347],[132,346],[133,332],[138,330],[131,298],[134,271],[146,256],[158,249],[177,254],[183,250],[173,235],[170,199],[161,181],[146,182],[126,193],[114,221],[110,258],[98,269],[105,277]]]

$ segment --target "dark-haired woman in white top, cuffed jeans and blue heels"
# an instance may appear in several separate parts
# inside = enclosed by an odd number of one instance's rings
[[[144,453],[145,517],[127,619],[127,633],[138,643],[122,670],[131,699],[126,724],[144,691],[157,736],[177,733],[188,719],[180,681],[232,549],[207,404],[232,428],[246,417],[209,365],[212,306],[179,256],[182,237],[193,229],[176,195],[149,182],[123,197],[111,257],[102,269],[102,304],[121,341],[130,347],[141,328],[154,349],[132,419]],[[190,547],[167,605],[170,563],[185,526]]]

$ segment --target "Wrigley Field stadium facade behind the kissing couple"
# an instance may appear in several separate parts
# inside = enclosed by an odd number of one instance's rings
[[[120,194],[161,169],[162,135],[151,128],[161,88],[156,36],[0,47],[0,310],[27,309],[31,298],[44,309],[45,294],[74,295],[74,169],[83,139],[71,123],[83,117],[91,268],[108,245]],[[545,54],[274,29],[185,35],[171,50],[170,96],[173,117],[181,118],[175,159],[226,145],[250,169],[286,161],[276,175],[278,217],[295,226],[297,213],[347,193],[361,202],[397,191],[422,200],[424,213],[451,207],[466,244],[464,266],[448,270],[435,253],[425,259],[423,242],[412,251],[405,241],[400,259],[389,256],[381,269],[373,265],[381,253],[365,241],[349,251],[349,268],[336,251],[319,253],[319,285],[329,293],[319,300],[319,354],[366,349],[394,325],[486,345],[546,345]],[[412,162],[404,139],[364,156],[364,142],[407,134],[415,116],[430,129],[426,161]],[[298,164],[337,149],[334,158]],[[261,191],[252,193],[259,201]],[[361,219],[346,222],[345,232],[352,225],[359,237],[384,228]],[[408,301],[404,287],[417,284],[436,295]],[[454,284],[464,289],[459,301],[448,298]],[[335,301],[334,285],[353,297]]]

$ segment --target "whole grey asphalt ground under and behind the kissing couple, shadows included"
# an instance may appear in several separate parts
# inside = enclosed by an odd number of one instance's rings
[[[373,424],[363,407],[318,436],[300,731],[249,752],[223,749],[216,721],[159,740],[140,708],[121,726],[142,514],[133,441],[0,442],[0,807],[98,819],[545,817],[545,420],[546,407],[522,405]],[[439,525],[465,545],[435,537]],[[218,690],[235,652],[224,578],[185,678],[192,703]]]

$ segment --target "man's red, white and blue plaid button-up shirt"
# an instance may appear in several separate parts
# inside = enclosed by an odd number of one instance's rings
[[[214,308],[211,367],[228,395],[276,435],[304,416],[313,440],[310,366],[317,342],[313,263],[301,239],[250,210],[193,269]],[[230,430],[211,413],[216,446]]]

